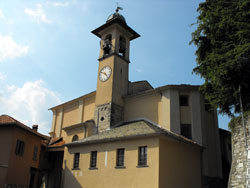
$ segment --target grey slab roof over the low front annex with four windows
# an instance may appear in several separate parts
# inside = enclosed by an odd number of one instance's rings
[[[74,141],[65,146],[77,146],[77,145],[86,145],[91,143],[103,143],[103,142],[112,142],[117,140],[125,140],[130,138],[140,138],[140,137],[149,137],[163,135],[174,140],[191,144],[194,146],[201,147],[199,144],[190,140],[184,136],[172,133],[159,125],[156,125],[152,122],[149,122],[145,119],[124,122],[123,124],[112,128],[110,130],[100,132],[98,134],[92,135],[90,137]]]

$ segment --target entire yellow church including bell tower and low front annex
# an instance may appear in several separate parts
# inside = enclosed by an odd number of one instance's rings
[[[50,109],[48,150],[61,167],[48,181],[63,188],[200,188],[222,178],[216,110],[199,86],[129,81],[130,42],[140,35],[118,11],[92,31],[100,38],[96,91]]]

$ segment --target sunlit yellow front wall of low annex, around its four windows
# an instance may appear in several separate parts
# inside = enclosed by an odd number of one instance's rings
[[[149,167],[137,168],[138,147],[148,146]],[[116,169],[116,150],[125,148],[125,167]],[[158,188],[159,159],[158,138],[117,141],[65,150],[64,187],[72,188]],[[89,170],[90,152],[98,151],[97,170]],[[80,170],[72,170],[73,154],[80,152]],[[105,155],[106,165],[105,165]]]

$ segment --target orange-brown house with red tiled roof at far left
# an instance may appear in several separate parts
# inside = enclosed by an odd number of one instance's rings
[[[49,137],[8,116],[0,116],[0,187],[41,187]]]

